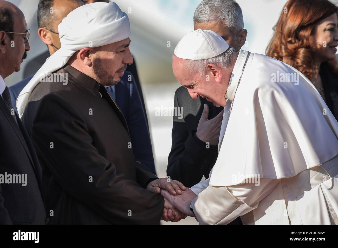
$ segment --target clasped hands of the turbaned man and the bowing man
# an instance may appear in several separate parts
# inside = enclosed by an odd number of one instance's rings
[[[187,216],[195,217],[190,210],[190,203],[196,197],[196,194],[182,183],[167,177],[159,178],[150,182],[147,190],[161,193],[164,197],[161,220],[176,222],[185,219]]]

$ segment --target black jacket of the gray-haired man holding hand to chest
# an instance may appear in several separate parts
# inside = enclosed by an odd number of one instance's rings
[[[210,148],[206,148],[206,143],[196,136],[204,104],[209,106],[209,119],[214,118],[224,109],[215,107],[205,98],[192,99],[183,86],[175,92],[174,107],[182,107],[183,118],[173,116],[172,145],[167,175],[173,180],[182,182],[186,187],[198,184],[203,175],[209,178],[209,173],[217,159],[218,145],[210,145]]]

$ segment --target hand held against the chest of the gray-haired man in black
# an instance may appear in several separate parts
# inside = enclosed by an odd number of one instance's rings
[[[204,104],[203,113],[198,122],[196,136],[204,143],[209,142],[210,145],[217,145],[221,131],[223,111],[210,120],[208,120],[208,115],[209,106],[208,104]]]

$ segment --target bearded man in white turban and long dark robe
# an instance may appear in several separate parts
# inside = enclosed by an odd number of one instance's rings
[[[159,224],[185,218],[159,194],[182,194],[134,156],[126,120],[104,86],[127,64],[130,24],[114,3],[91,3],[58,25],[61,48],[20,93],[17,106],[42,167],[51,224]],[[39,173],[37,169],[37,173]]]

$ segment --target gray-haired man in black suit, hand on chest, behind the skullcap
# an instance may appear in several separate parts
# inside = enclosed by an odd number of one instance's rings
[[[246,40],[243,26],[242,9],[234,0],[203,0],[194,13],[195,30],[199,27],[218,33],[236,51]],[[183,86],[175,92],[174,106],[183,107],[183,118],[173,117],[167,175],[186,187],[199,183],[203,175],[209,178],[217,159],[223,107],[207,100],[202,95],[192,99]],[[232,223],[241,223],[236,220]]]

